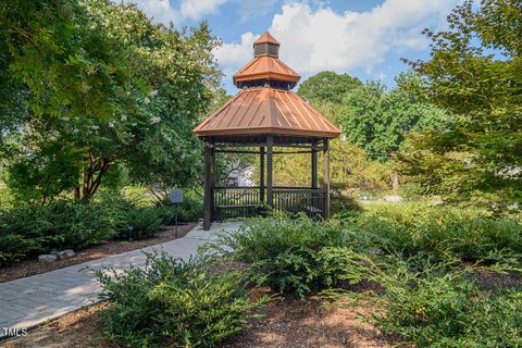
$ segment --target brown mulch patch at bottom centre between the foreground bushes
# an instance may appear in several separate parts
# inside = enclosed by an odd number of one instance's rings
[[[268,288],[257,293],[269,293]],[[261,294],[254,294],[259,296]],[[227,340],[226,348],[347,348],[391,347],[394,339],[383,335],[360,314],[363,308],[337,308],[318,297],[298,300],[285,297],[259,310],[262,316],[250,327]]]

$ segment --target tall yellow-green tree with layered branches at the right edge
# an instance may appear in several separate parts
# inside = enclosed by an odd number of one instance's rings
[[[448,24],[425,30],[431,59],[409,63],[424,78],[421,91],[451,117],[410,139],[403,172],[453,198],[513,199],[522,187],[522,3],[483,0],[475,10],[467,1]],[[442,163],[446,173],[434,182]]]

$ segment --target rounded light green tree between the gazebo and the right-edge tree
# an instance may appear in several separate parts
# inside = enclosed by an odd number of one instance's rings
[[[413,74],[401,74],[399,85],[419,83]],[[378,83],[366,83],[345,95],[336,116],[347,140],[366,150],[371,159],[387,160],[411,129],[430,127],[444,113],[426,103],[414,90],[397,87],[387,91]]]

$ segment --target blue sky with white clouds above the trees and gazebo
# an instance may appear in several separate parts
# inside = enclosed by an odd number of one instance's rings
[[[253,58],[252,44],[269,30],[281,44],[279,59],[302,77],[321,71],[348,73],[394,86],[408,66],[401,58],[428,58],[421,34],[446,27],[461,0],[123,0],[154,22],[176,27],[207,21],[223,45],[214,55],[235,95],[232,75]]]

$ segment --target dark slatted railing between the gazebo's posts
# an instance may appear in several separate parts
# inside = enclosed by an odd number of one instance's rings
[[[289,213],[303,212],[310,217],[324,217],[326,190],[309,187],[274,187],[273,210]],[[266,187],[224,187],[212,189],[212,220],[256,216],[266,213]]]

